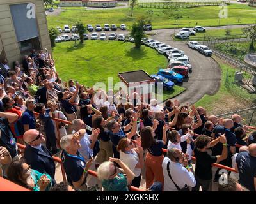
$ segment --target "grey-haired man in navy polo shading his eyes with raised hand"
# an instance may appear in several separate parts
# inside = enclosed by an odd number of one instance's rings
[[[63,149],[61,160],[67,175],[67,180],[75,189],[86,191],[86,177],[88,169],[92,164],[92,159],[86,161],[78,149],[81,147],[79,138],[85,132],[84,129],[77,131],[74,135],[65,135],[60,140],[60,146]]]

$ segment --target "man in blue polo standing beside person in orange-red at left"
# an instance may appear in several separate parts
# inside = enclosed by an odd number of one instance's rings
[[[28,131],[29,129],[36,129],[36,119],[33,113],[35,104],[36,102],[33,99],[26,101],[27,109],[22,114],[20,119],[24,128],[24,132]]]

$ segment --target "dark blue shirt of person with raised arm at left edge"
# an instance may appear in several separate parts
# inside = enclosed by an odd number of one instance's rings
[[[0,146],[6,147],[11,157],[15,157],[17,155],[16,142],[10,130],[8,119],[4,117],[0,118],[0,130]]]

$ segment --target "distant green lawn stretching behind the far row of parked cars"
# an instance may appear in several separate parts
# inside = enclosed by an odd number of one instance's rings
[[[127,17],[128,9],[109,9],[109,10],[65,10],[58,16],[47,16],[49,27],[63,26],[65,24],[74,24],[81,20],[83,24],[127,24],[128,27],[134,22],[134,19],[140,15],[147,15],[147,11],[152,10],[152,27],[153,29],[177,27],[177,22],[173,18],[169,19],[164,15],[163,9],[134,8],[134,16]],[[179,27],[217,26],[219,25],[219,7],[218,6],[200,6],[195,8],[182,8],[182,19],[180,19]],[[253,24],[255,23],[256,8],[231,4],[228,6],[228,18],[221,19],[220,25],[234,24]]]

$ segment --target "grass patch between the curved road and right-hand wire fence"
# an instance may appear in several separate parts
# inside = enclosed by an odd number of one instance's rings
[[[226,64],[220,59],[214,57],[220,64],[221,68],[221,86],[219,91],[214,96],[205,95],[195,105],[203,106],[209,113],[221,114],[239,109],[239,106],[250,106],[256,103],[256,94],[250,94],[245,89],[241,89],[239,85],[233,84],[234,82],[234,69],[229,64]],[[229,86],[225,85],[225,80],[229,77]],[[245,76],[246,78],[248,75]]]

